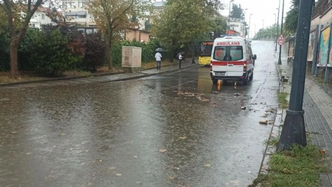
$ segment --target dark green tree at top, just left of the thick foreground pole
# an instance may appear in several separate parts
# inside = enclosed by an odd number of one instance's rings
[[[299,5],[300,0],[292,0],[291,9],[287,12],[287,16],[285,18],[285,30],[290,33],[296,32]]]

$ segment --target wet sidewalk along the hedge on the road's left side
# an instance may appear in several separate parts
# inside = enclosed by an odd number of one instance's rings
[[[100,82],[114,82],[114,81],[122,81],[122,80],[130,80],[135,78],[142,78],[153,76],[161,73],[167,73],[170,71],[176,70],[183,70],[186,68],[190,68],[198,64],[192,64],[192,59],[187,59],[186,61],[182,62],[181,69],[179,69],[179,65],[170,65],[166,67],[161,67],[161,70],[157,69],[147,69],[143,70],[140,73],[121,73],[121,74],[114,74],[114,75],[105,75],[105,76],[97,76],[97,77],[86,77],[86,78],[77,78],[77,79],[69,79],[69,80],[50,80],[50,81],[34,81],[31,83],[25,84],[7,84],[7,85],[0,85],[2,87],[41,87],[41,86],[64,86],[64,85],[78,85],[78,84],[91,84],[91,83],[100,83]]]

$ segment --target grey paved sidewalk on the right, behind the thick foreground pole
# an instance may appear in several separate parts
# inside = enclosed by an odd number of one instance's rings
[[[292,63],[287,64],[287,60],[282,61],[282,65],[278,65],[282,69],[282,75],[291,82]],[[307,73],[305,79],[303,110],[306,132],[310,134],[311,141],[320,149],[325,149],[327,156],[332,156],[332,95],[328,94],[332,89],[323,86],[315,80],[316,78]],[[288,85],[291,85],[288,84]],[[288,86],[290,87],[290,86]],[[287,92],[290,92],[287,89]],[[328,166],[332,169],[332,166]],[[332,186],[332,174],[321,175],[321,186]]]

